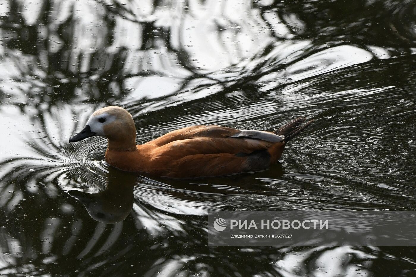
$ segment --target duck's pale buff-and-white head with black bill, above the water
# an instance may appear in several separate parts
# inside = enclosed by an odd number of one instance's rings
[[[95,111],[88,119],[87,125],[69,142],[77,142],[87,137],[102,136],[112,142],[136,141],[136,127],[131,114],[121,107],[109,106]]]

